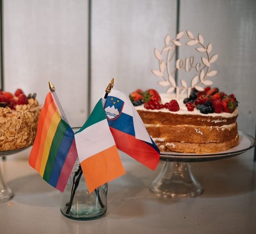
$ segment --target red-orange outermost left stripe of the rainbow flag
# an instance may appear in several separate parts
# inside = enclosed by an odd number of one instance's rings
[[[48,107],[52,102],[54,102],[52,98],[52,94],[48,92],[45,98],[45,104],[43,105],[40,111],[40,116],[39,116],[38,126],[37,126],[37,133],[36,133],[35,141],[29,156],[29,165],[31,165],[33,168],[35,168],[36,159],[38,157],[39,145],[41,142],[41,135],[42,135],[42,129],[43,129],[43,122],[45,121]]]

